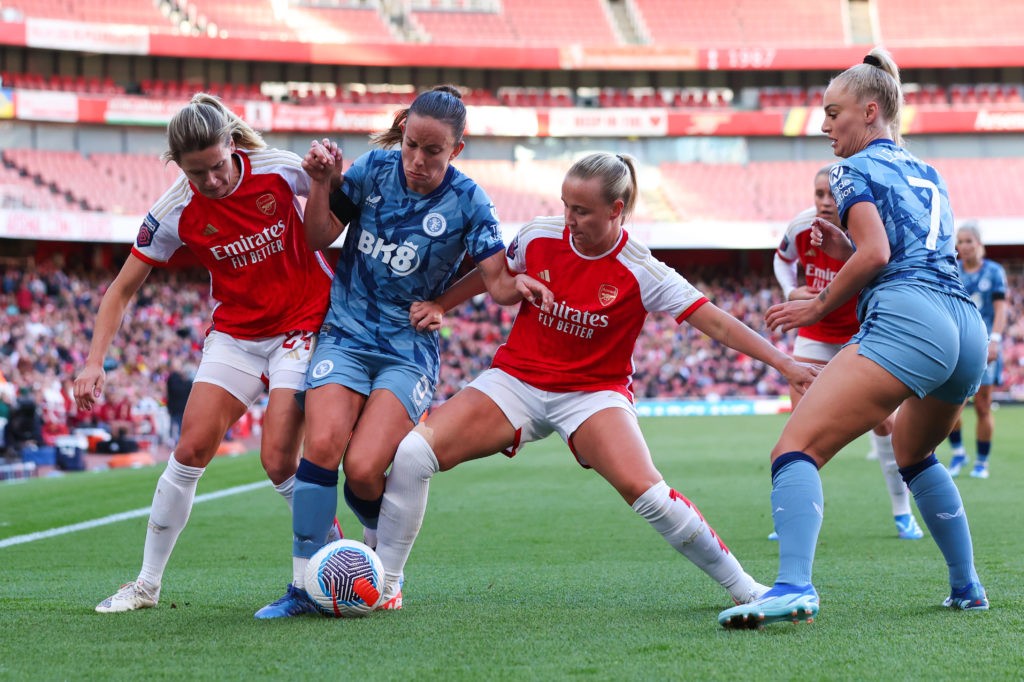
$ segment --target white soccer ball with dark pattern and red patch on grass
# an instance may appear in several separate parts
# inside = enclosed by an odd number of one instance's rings
[[[384,592],[384,564],[362,543],[337,540],[309,559],[306,592],[324,615],[366,615],[374,610]]]

